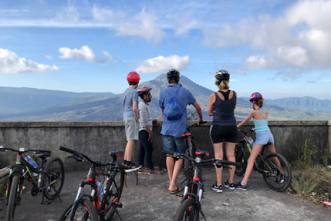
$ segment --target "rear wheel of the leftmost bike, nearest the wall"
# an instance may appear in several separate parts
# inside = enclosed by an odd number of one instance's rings
[[[45,167],[41,185],[45,188],[43,194],[48,200],[55,200],[61,193],[64,184],[64,166],[59,157],[54,157]]]

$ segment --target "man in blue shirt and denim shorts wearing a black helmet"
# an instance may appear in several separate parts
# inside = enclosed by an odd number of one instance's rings
[[[167,73],[169,86],[165,90],[162,90],[159,97],[159,106],[162,110],[162,114],[170,97],[175,96],[183,115],[179,119],[167,119],[163,116],[162,124],[162,143],[163,151],[174,151],[177,153],[185,153],[186,144],[181,135],[185,133],[186,126],[188,124],[188,115],[186,112],[186,107],[192,104],[197,110],[199,115],[198,124],[203,122],[201,107],[199,106],[197,100],[193,97],[192,93],[186,88],[183,88],[179,84],[179,71],[176,69],[171,69]],[[171,157],[167,157],[166,160],[168,175],[169,175],[169,186],[168,191],[171,194],[181,191],[181,188],[177,186],[177,177],[181,171],[181,166],[183,165],[183,160],[175,161]]]

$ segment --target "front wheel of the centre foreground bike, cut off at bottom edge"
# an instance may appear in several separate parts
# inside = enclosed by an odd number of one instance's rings
[[[184,200],[181,206],[179,206],[176,215],[174,216],[174,221],[198,221],[199,209],[197,207],[197,202],[195,202],[193,198]]]

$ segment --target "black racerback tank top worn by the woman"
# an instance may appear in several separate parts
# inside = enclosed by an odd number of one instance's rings
[[[212,117],[212,125],[221,126],[237,126],[236,117],[234,117],[234,108],[237,104],[236,93],[233,91],[233,96],[229,99],[230,90],[227,92],[221,91],[225,100],[222,100],[215,92],[216,101],[214,102],[215,113]]]

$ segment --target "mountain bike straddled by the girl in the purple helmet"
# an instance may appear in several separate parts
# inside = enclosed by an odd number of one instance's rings
[[[248,133],[254,131],[254,128],[245,131],[238,130],[243,133],[243,139],[236,144],[235,148],[235,157],[236,162],[239,162],[240,166],[236,167],[235,174],[238,176],[243,175],[246,171],[247,161],[250,153],[252,152],[252,146],[248,141]],[[291,184],[292,180],[292,171],[290,164],[279,153],[269,153],[264,155],[265,149],[268,148],[268,145],[271,143],[263,145],[261,153],[257,156],[257,159],[254,161],[254,170],[262,173],[265,183],[274,191],[282,192],[288,189],[288,186]],[[280,167],[277,166],[281,165]]]

